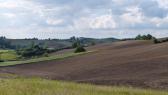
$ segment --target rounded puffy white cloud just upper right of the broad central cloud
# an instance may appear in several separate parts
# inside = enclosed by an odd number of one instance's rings
[[[136,23],[143,23],[144,15],[140,8],[137,6],[128,7],[126,13],[122,14],[120,17],[122,20],[134,25]]]

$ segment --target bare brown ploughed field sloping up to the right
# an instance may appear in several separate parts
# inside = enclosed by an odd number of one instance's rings
[[[94,53],[57,61],[1,67],[24,76],[168,89],[168,43],[123,41],[88,48]]]

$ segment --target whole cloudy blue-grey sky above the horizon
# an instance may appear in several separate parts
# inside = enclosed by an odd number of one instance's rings
[[[0,0],[0,36],[168,36],[168,0]]]

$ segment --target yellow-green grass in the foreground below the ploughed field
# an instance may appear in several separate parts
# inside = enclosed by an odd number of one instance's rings
[[[168,92],[17,78],[0,79],[0,95],[168,95]]]

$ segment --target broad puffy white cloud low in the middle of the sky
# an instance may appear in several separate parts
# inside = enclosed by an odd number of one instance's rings
[[[96,17],[81,17],[74,21],[76,29],[114,29],[117,28],[117,23],[112,15],[105,14]]]

